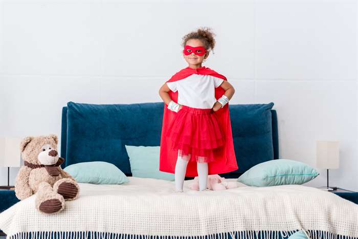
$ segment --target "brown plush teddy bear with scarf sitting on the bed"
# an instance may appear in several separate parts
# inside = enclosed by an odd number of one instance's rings
[[[21,166],[15,182],[15,194],[24,200],[35,194],[35,206],[52,214],[64,208],[65,201],[78,198],[80,188],[68,172],[61,169],[64,159],[57,153],[56,135],[26,137],[20,143]]]

